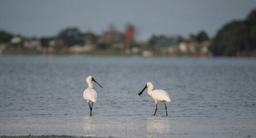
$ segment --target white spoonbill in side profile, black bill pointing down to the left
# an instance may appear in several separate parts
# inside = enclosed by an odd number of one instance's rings
[[[143,91],[147,89],[147,93],[148,95],[150,95],[151,98],[153,98],[155,100],[155,113],[156,113],[156,110],[157,110],[157,102],[162,102],[163,104],[165,104],[165,102],[170,102],[171,99],[169,97],[169,94],[164,91],[164,90],[153,90],[153,85],[151,82],[148,82],[146,84],[146,86],[144,87],[144,89],[142,91],[140,91],[140,93],[138,95],[141,95],[143,93]],[[153,90],[153,91],[152,91]],[[166,110],[166,116],[168,116],[167,114],[167,108],[166,108],[166,105],[165,105],[165,110]],[[154,116],[155,116],[155,113],[154,113]]]

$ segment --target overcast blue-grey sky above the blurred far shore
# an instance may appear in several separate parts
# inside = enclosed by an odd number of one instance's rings
[[[188,35],[200,30],[213,37],[224,24],[244,20],[255,8],[255,0],[0,0],[0,30],[42,37],[77,26],[101,34],[110,23],[124,32],[131,22],[143,41],[153,33]]]

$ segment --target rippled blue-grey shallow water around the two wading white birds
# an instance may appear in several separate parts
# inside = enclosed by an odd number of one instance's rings
[[[255,58],[0,56],[0,136],[256,137],[255,84]]]

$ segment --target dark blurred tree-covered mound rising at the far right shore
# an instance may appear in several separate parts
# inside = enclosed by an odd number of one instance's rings
[[[212,39],[213,56],[256,56],[256,9],[246,20],[223,26]]]

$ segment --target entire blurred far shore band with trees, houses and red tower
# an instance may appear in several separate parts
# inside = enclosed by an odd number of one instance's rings
[[[152,34],[148,41],[139,41],[137,32],[129,22],[123,31],[114,24],[102,34],[68,27],[56,36],[40,38],[0,30],[0,54],[256,57],[256,9],[244,20],[224,25],[213,38],[201,30],[189,35]]]

